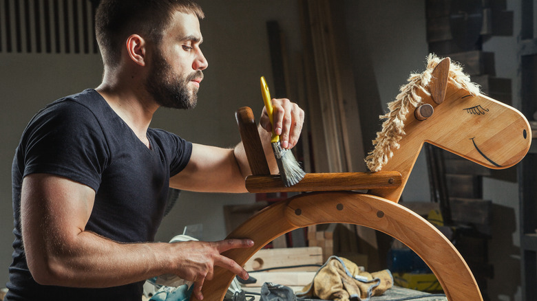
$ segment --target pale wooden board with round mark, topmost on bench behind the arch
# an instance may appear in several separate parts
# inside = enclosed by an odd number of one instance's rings
[[[296,265],[322,265],[321,247],[291,247],[284,249],[260,249],[244,265],[246,271],[259,271],[276,267],[289,267]],[[317,271],[319,267],[293,267],[284,271]],[[282,269],[273,269],[282,271]]]

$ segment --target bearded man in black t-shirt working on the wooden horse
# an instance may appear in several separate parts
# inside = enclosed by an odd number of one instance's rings
[[[190,109],[207,68],[202,10],[189,0],[103,0],[96,32],[103,82],[39,111],[25,129],[13,166],[15,241],[6,300],[140,300],[143,281],[176,274],[202,299],[213,266],[242,278],[220,255],[249,239],[154,240],[168,187],[244,192],[249,166],[233,149],[191,144],[150,129],[158,107]],[[304,112],[273,100],[282,145],[297,142]],[[271,124],[260,135],[269,153]],[[268,157],[275,170],[273,157]]]

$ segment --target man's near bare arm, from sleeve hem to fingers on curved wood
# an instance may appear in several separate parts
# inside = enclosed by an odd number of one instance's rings
[[[36,282],[114,287],[176,274],[199,286],[212,276],[214,265],[247,278],[242,267],[220,252],[250,247],[253,242],[117,243],[85,230],[94,197],[91,188],[63,177],[34,174],[24,178],[22,234],[28,267]]]

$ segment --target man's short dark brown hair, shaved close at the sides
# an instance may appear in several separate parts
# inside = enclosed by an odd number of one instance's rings
[[[103,63],[116,67],[121,47],[131,34],[160,43],[174,12],[203,19],[200,5],[190,0],[102,0],[95,16],[95,30]]]

